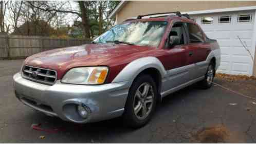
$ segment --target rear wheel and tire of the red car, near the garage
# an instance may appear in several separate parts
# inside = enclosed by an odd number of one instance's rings
[[[214,74],[215,74],[214,65],[210,63],[210,65],[207,68],[205,78],[199,82],[199,86],[203,89],[209,89],[212,86]]]

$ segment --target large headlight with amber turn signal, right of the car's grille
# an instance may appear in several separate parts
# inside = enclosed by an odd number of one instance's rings
[[[99,85],[105,82],[107,67],[81,67],[69,70],[62,78],[62,83],[80,85]]]

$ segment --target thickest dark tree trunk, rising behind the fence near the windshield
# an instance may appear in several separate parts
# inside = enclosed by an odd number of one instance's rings
[[[87,16],[87,4],[88,2],[84,1],[78,1],[79,8],[81,11],[81,18],[82,18],[82,25],[84,27],[84,33],[85,33],[85,38],[90,38],[90,25],[89,25],[89,20]]]

